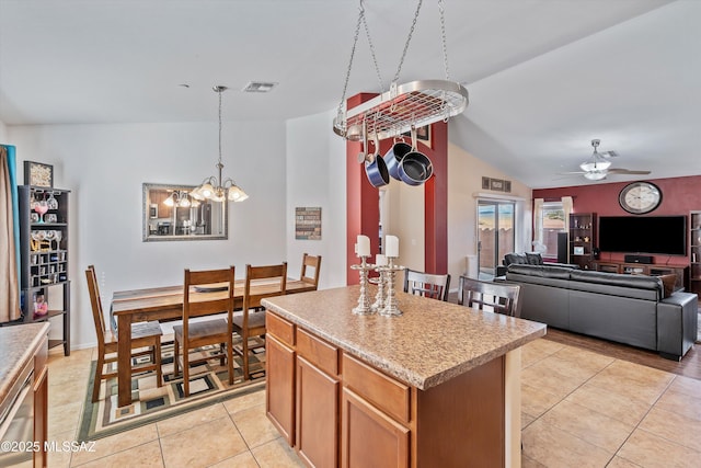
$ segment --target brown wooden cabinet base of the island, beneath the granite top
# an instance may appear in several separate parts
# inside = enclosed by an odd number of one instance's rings
[[[506,361],[418,390],[266,312],[267,415],[310,467],[504,467]]]

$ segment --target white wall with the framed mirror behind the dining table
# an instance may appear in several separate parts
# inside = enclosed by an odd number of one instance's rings
[[[225,123],[223,176],[250,198],[229,206],[229,239],[142,242],[141,184],[199,184],[216,172],[217,123],[9,126],[22,160],[54,164],[69,189],[71,344],[95,344],[84,269],[94,264],[103,304],[114,290],[182,284],[183,270],[287,260],[286,128],[283,122]],[[21,170],[20,170],[21,171]],[[22,180],[22,176],[20,176]]]

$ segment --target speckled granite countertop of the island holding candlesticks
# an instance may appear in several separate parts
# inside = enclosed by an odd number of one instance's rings
[[[407,385],[426,390],[545,334],[545,326],[397,293],[400,317],[358,316],[359,286],[271,297],[263,306]],[[377,289],[369,287],[374,299]]]

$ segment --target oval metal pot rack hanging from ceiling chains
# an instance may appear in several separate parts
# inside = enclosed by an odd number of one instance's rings
[[[379,67],[375,56],[375,49],[370,39],[370,32],[365,20],[365,9],[363,0],[360,0],[360,12],[356,24],[355,38],[350,52],[350,61],[346,72],[346,81],[343,90],[343,96],[338,103],[338,114],[333,121],[333,130],[336,135],[342,136],[352,141],[363,140],[365,128],[367,138],[392,138],[400,136],[412,128],[420,128],[439,121],[447,122],[450,117],[462,113],[468,106],[468,90],[460,83],[449,80],[448,72],[448,53],[446,47],[446,26],[444,2],[438,0],[440,11],[440,25],[443,33],[443,56],[446,71],[446,80],[418,80],[404,84],[397,84],[399,75],[406,56],[406,50],[418,19],[422,0],[414,14],[409,37],[404,45],[404,52],[400,59],[400,64],[390,85],[390,90],[382,92],[378,96],[367,101],[352,110],[344,111],[345,94],[348,85],[348,78],[353,67],[353,57],[358,39],[360,24],[365,26],[370,52],[375,61],[375,68],[380,81],[380,89],[383,90],[382,80],[380,78]]]

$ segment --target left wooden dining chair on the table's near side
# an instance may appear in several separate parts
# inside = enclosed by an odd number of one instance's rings
[[[221,270],[185,270],[183,288],[183,323],[173,327],[175,375],[180,374],[180,351],[183,351],[183,393],[189,397],[189,365],[219,358],[226,359],[229,385],[233,385],[233,266]],[[227,318],[191,321],[199,317],[226,313]],[[195,361],[189,358],[189,350],[208,344],[219,344],[219,352]]]

